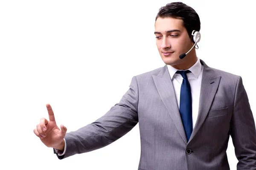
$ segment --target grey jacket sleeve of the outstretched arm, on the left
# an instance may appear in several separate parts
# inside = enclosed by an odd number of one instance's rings
[[[138,123],[138,100],[137,79],[133,77],[128,91],[110,111],[95,122],[66,133],[67,150],[64,156],[56,154],[58,159],[105,147],[124,136]]]

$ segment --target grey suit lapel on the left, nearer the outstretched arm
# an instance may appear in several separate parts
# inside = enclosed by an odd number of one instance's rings
[[[170,77],[167,65],[163,67],[160,73],[157,76],[152,76],[154,83],[157,87],[157,91],[163,101],[163,104],[166,107],[169,115],[178,132],[180,133],[181,138],[187,144],[186,134],[180,118],[180,111],[177,105],[177,99],[175,96],[175,91],[172,84],[172,79]]]

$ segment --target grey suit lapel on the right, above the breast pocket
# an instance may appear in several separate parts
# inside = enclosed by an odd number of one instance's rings
[[[201,91],[200,91],[200,99],[199,99],[199,110],[198,110],[198,118],[195,124],[195,127],[192,131],[189,142],[193,139],[195,134],[198,132],[204,120],[207,117],[209,109],[212,105],[212,101],[218,89],[218,85],[221,77],[215,75],[215,72],[212,68],[209,68],[204,61],[200,60],[201,64],[204,66],[202,82],[201,82]]]

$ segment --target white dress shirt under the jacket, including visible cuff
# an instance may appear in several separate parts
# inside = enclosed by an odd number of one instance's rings
[[[183,77],[180,74],[176,74],[176,71],[178,70],[176,68],[173,68],[171,65],[167,65],[167,68],[172,79],[172,84],[174,87],[177,104],[180,109],[180,88],[183,81]],[[191,71],[191,73],[187,73],[187,77],[189,80],[191,95],[192,95],[192,123],[194,128],[195,122],[198,117],[199,97],[200,97],[201,82],[202,82],[202,75],[203,75],[203,65],[201,65],[200,59],[198,59],[197,62],[188,70]],[[63,152],[55,149],[56,153],[58,153],[59,156],[62,156],[66,153],[67,145],[66,145],[65,139],[64,141],[65,141],[65,147]]]

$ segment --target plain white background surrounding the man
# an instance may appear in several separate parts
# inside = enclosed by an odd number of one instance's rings
[[[164,65],[154,37],[155,0],[0,1],[0,169],[136,170],[138,125],[99,150],[58,160],[35,136],[52,105],[68,132],[104,115],[131,78]],[[255,5],[250,1],[184,0],[201,19],[198,57],[243,78],[256,116]],[[171,153],[170,153],[171,154]],[[237,159],[230,138],[230,169]]]

